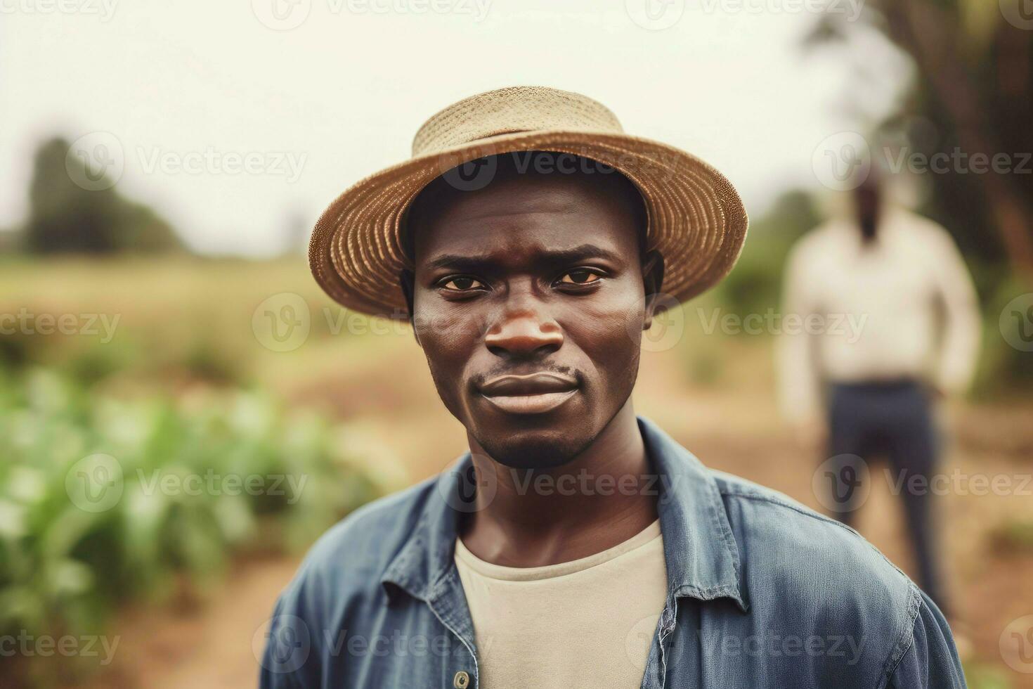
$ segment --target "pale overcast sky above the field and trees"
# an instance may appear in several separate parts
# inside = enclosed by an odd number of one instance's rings
[[[695,153],[756,216],[818,186],[816,147],[859,126],[848,52],[800,46],[815,2],[0,0],[0,226],[24,219],[32,153],[61,134],[195,249],[274,253],[408,157],[436,111],[522,84],[578,91]],[[884,109],[906,64],[869,42],[865,101]]]

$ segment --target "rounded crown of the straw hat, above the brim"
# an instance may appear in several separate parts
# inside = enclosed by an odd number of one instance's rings
[[[542,86],[479,93],[437,113],[412,139],[413,157],[520,131],[624,129],[608,107],[588,96]]]

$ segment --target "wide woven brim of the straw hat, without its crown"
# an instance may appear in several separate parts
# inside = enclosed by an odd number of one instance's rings
[[[648,214],[647,245],[664,256],[662,291],[678,302],[715,285],[746,240],[742,199],[719,171],[674,147],[612,131],[502,134],[417,156],[358,182],[316,223],[309,264],[336,302],[362,313],[407,315],[399,273],[412,269],[401,229],[409,205],[432,180],[487,155],[556,151],[590,158],[628,177]]]

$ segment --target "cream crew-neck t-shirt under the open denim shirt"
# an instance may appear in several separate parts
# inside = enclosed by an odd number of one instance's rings
[[[660,521],[609,550],[503,567],[456,540],[480,689],[635,689],[667,593]]]

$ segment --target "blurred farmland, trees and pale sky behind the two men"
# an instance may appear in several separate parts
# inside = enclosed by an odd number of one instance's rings
[[[970,686],[1033,687],[1030,0],[0,11],[0,686],[253,686],[315,537],[465,450],[408,327],[336,306],[304,251],[432,114],[533,84],[742,191],[742,260],[647,334],[636,408],[816,509],[777,328],[746,319],[778,314],[790,246],[846,213],[858,165],[946,227],[982,328],[973,388],[939,409],[941,471],[998,487],[938,498],[946,584]],[[858,528],[913,573],[877,476]]]

